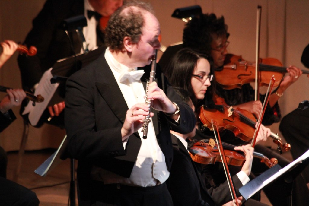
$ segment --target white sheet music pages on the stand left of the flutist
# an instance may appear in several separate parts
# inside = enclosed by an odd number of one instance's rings
[[[42,78],[40,79],[39,85],[34,92],[34,95],[42,95],[42,97],[44,97],[44,101],[36,103],[36,106],[34,107],[32,105],[32,102],[29,101],[28,105],[23,111],[23,115],[29,113],[28,119],[32,126],[35,126],[38,123],[44,110],[47,108],[50,99],[52,99],[57,87],[59,86],[59,83],[50,83],[50,79],[53,78],[53,75],[51,73],[52,69],[53,68],[50,68],[44,72]]]

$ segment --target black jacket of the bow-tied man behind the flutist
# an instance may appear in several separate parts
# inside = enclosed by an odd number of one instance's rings
[[[74,16],[84,15],[84,0],[47,0],[43,9],[33,19],[32,30],[24,44],[35,46],[37,54],[29,57],[19,55],[18,64],[24,89],[31,89],[40,81],[43,73],[62,58],[81,51],[76,32],[69,32],[73,49],[66,32],[61,28],[62,21]],[[97,30],[97,44],[102,46],[104,34]]]

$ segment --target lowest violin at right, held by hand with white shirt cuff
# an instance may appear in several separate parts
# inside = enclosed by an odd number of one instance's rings
[[[222,142],[226,162],[233,166],[242,166],[246,161],[245,156],[240,151],[234,150],[235,145],[230,145]],[[195,142],[189,149],[189,154],[194,162],[200,164],[214,164],[215,162],[222,162],[218,150],[218,145],[213,139],[205,139]],[[276,165],[278,160],[276,158],[268,159],[263,154],[253,152],[255,158],[261,159],[269,168]]]

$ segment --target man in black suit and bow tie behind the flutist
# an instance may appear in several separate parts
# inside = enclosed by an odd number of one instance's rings
[[[87,19],[83,34],[89,50],[104,46],[104,26],[112,13],[122,6],[123,0],[47,0],[43,9],[33,20],[33,28],[23,44],[35,46],[37,54],[29,57],[19,55],[18,64],[24,90],[36,89],[40,78],[57,60],[71,57],[81,52],[81,44],[76,32],[69,32],[72,47],[66,32],[61,28],[62,21],[78,15]],[[63,127],[64,102],[45,110],[41,126],[50,116],[50,124]]]

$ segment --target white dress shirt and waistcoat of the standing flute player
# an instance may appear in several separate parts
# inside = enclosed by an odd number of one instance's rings
[[[137,70],[137,68],[128,68],[120,64],[112,56],[109,48],[105,51],[105,59],[114,74],[128,108],[131,108],[136,103],[144,103],[145,90],[140,80],[126,79],[122,83],[119,81],[122,72]],[[105,184],[121,183],[149,187],[162,184],[169,177],[165,156],[159,147],[152,122],[148,125],[147,139],[142,138],[142,128],[138,130],[138,134],[141,138],[142,145],[130,177],[124,178],[105,170],[105,174],[103,175]],[[123,144],[125,147],[126,141]]]

